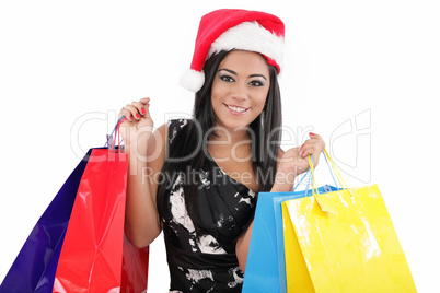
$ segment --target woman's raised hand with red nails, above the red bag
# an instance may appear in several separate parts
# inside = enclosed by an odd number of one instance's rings
[[[120,125],[119,133],[124,139],[126,150],[135,146],[138,153],[147,155],[147,144],[153,132],[154,122],[150,116],[150,98],[146,97],[139,102],[127,104],[120,113],[119,118],[127,118]]]

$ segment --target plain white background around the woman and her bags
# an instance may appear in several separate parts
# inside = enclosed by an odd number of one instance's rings
[[[349,186],[379,184],[418,291],[439,292],[440,10],[414,0],[2,1],[0,280],[125,104],[151,97],[155,126],[190,114],[178,79],[219,8],[285,21],[283,144],[320,133]],[[149,279],[166,292],[162,235]]]

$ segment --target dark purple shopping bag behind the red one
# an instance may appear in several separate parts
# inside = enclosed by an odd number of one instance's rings
[[[66,228],[89,151],[39,218],[3,279],[0,292],[51,292]]]

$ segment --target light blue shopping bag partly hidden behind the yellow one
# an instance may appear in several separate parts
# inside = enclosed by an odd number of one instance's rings
[[[291,192],[258,194],[243,293],[287,292],[281,203],[289,199],[312,196],[309,184],[304,190],[296,191],[304,179],[311,179],[310,175],[308,172]],[[338,189],[340,188],[336,183],[335,186],[325,185],[319,188],[321,194]]]

